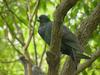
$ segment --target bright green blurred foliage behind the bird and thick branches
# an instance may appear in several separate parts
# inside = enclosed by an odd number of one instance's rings
[[[99,0],[79,0],[67,13],[64,24],[74,33],[83,19],[91,14]],[[38,16],[46,14],[53,20],[53,13],[61,0],[0,0],[0,75],[24,75],[25,56],[33,65],[47,73],[46,50],[48,46],[38,34]],[[100,50],[100,25],[93,32],[84,51],[91,55]],[[65,57],[61,57],[61,66]],[[32,61],[31,61],[32,60]],[[85,60],[81,60],[83,63]],[[80,75],[99,75],[100,58]]]

